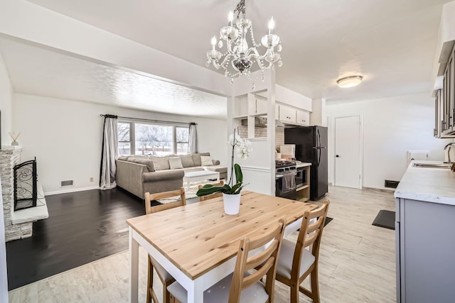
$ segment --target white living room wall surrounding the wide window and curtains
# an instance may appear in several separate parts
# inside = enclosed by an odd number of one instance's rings
[[[22,160],[36,156],[38,180],[45,194],[60,192],[60,180],[74,180],[80,190],[100,179],[102,126],[100,114],[198,123],[198,148],[228,164],[226,121],[122,109],[81,101],[14,94],[14,129],[21,132]],[[223,136],[218,136],[222,134]],[[90,182],[90,177],[95,182]],[[64,192],[68,192],[65,188]]]

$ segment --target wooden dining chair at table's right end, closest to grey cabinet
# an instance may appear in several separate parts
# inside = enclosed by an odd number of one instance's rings
[[[317,209],[305,211],[296,243],[287,239],[283,240],[278,258],[276,279],[291,287],[291,303],[299,302],[299,292],[310,297],[314,303],[320,302],[319,246],[321,246],[328,204],[330,202],[325,200]],[[301,286],[301,282],[310,274],[311,290],[307,290]]]

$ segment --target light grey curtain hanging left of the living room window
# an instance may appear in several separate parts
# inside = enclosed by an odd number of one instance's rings
[[[105,115],[102,134],[100,189],[112,189],[115,183],[115,159],[118,156],[117,116]]]

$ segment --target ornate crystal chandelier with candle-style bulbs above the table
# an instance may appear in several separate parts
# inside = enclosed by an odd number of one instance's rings
[[[234,14],[237,13],[234,22]],[[279,52],[282,51],[282,45],[279,36],[273,33],[274,30],[273,17],[269,21],[269,33],[261,38],[261,43],[257,44],[253,34],[251,20],[245,14],[245,0],[240,0],[234,11],[230,11],[228,15],[228,26],[224,26],[220,30],[220,39],[218,40],[218,48],[223,48],[226,45],[226,52],[221,53],[216,50],[217,38],[214,36],[211,40],[212,49],[207,52],[207,67],[210,64],[218,70],[225,70],[225,77],[230,77],[230,82],[234,82],[235,77],[245,76],[253,82],[255,89],[255,80],[251,78],[251,69],[255,62],[259,67],[264,81],[264,72],[270,68],[274,69],[274,64],[281,67],[283,62]],[[247,42],[248,29],[250,29],[251,47]],[[263,46],[265,52],[260,55],[259,48]],[[275,49],[276,48],[276,49]]]

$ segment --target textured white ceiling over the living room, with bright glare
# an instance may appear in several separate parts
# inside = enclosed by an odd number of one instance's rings
[[[119,68],[0,39],[16,92],[168,114],[224,119],[226,98]]]

